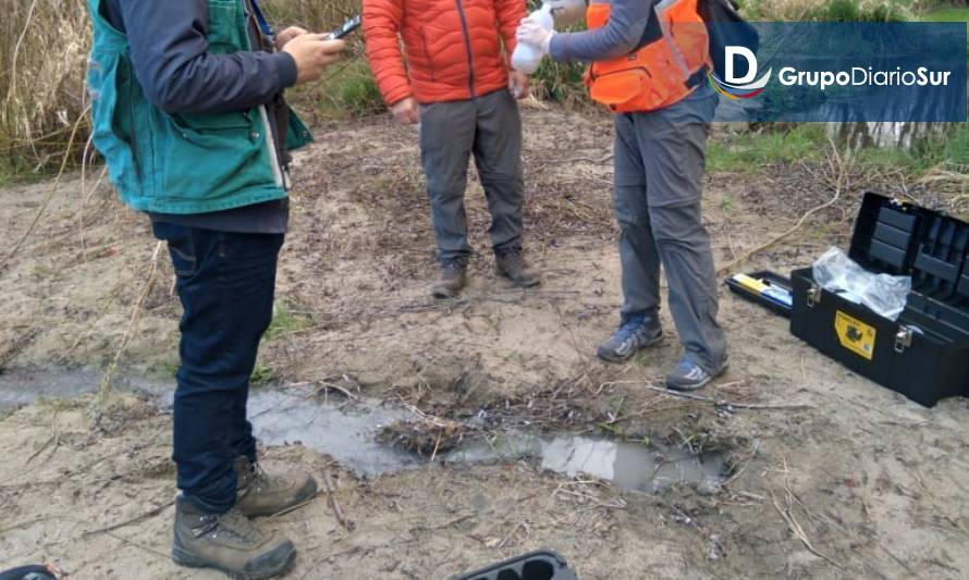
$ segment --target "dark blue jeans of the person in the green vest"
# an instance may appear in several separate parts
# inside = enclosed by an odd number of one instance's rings
[[[223,513],[235,503],[240,455],[256,458],[246,420],[249,377],[272,320],[282,234],[240,234],[154,224],[168,242],[182,300],[174,454],[182,493]]]

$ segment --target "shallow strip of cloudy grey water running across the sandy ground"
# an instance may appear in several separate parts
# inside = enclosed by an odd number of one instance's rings
[[[72,398],[97,391],[97,371],[12,369],[0,373],[0,411],[40,399]],[[173,381],[122,378],[115,388],[144,393],[160,408],[171,410]],[[378,432],[398,420],[413,420],[412,411],[376,399],[348,402],[322,397],[309,388],[254,388],[249,420],[266,445],[300,443],[333,457],[341,466],[370,479],[405,469],[418,469],[428,459],[377,441]],[[537,436],[522,432],[473,441],[439,456],[449,464],[535,460],[543,469],[568,477],[591,476],[612,481],[623,490],[649,493],[672,484],[714,489],[722,481],[725,458],[720,453],[645,445],[593,436],[560,434]]]

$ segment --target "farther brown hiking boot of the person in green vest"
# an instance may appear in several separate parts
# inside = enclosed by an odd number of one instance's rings
[[[302,476],[270,476],[248,457],[234,462],[238,476],[238,499],[235,507],[247,518],[272,516],[305,504],[316,495],[316,480]]]

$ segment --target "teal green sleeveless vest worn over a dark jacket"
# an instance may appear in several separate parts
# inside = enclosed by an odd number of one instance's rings
[[[155,1],[155,0],[150,0]],[[244,0],[209,0],[209,52],[252,50]],[[94,143],[122,200],[160,213],[201,213],[286,196],[265,107],[169,114],[145,97],[127,38],[88,0],[94,45],[87,84]],[[290,111],[286,149],[311,136]]]

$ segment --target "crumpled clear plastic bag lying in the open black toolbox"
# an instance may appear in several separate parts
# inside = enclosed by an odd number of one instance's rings
[[[814,282],[892,321],[898,320],[911,292],[910,276],[869,272],[838,248],[831,248],[814,262]]]

